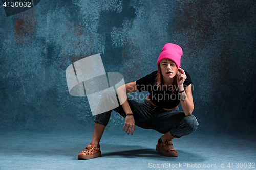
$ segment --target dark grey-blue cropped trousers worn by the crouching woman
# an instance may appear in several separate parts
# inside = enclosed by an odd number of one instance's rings
[[[118,96],[114,91],[104,91],[101,98],[105,98],[103,105],[109,105],[116,98],[118,99]],[[183,111],[179,111],[179,108],[166,111],[155,107],[146,99],[142,103],[130,98],[127,99],[134,116],[135,125],[138,127],[154,129],[162,134],[169,131],[172,136],[180,138],[193,133],[199,125],[194,115],[185,116]],[[121,105],[113,110],[125,118],[126,114]],[[94,122],[106,126],[113,110],[97,114]]]

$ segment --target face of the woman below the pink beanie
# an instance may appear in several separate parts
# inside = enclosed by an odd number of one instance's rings
[[[164,59],[160,62],[160,69],[165,78],[173,78],[177,74],[176,64],[169,59]]]

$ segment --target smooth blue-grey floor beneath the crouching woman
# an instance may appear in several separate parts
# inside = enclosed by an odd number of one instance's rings
[[[195,131],[173,139],[179,156],[172,158],[155,150],[161,136],[156,131],[137,127],[131,136],[122,129],[106,129],[100,142],[102,157],[77,160],[77,154],[91,142],[92,135],[92,130],[0,132],[0,169],[155,169],[161,164],[164,169],[175,165],[173,169],[200,169],[199,165],[208,165],[204,169],[244,169],[247,164],[248,169],[249,163],[252,169],[256,167],[255,135],[235,137]],[[243,166],[236,168],[236,163]],[[220,164],[225,168],[220,168]]]

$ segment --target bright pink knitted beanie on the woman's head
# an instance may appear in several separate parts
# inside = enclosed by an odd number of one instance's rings
[[[170,59],[176,64],[177,68],[180,68],[180,58],[182,54],[183,52],[179,45],[172,43],[165,44],[162,53],[158,57],[157,66],[162,60]]]

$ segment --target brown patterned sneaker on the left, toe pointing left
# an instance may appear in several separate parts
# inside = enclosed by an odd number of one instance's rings
[[[78,154],[78,159],[92,159],[101,156],[100,145],[96,148],[94,144],[90,143],[82,152]]]

